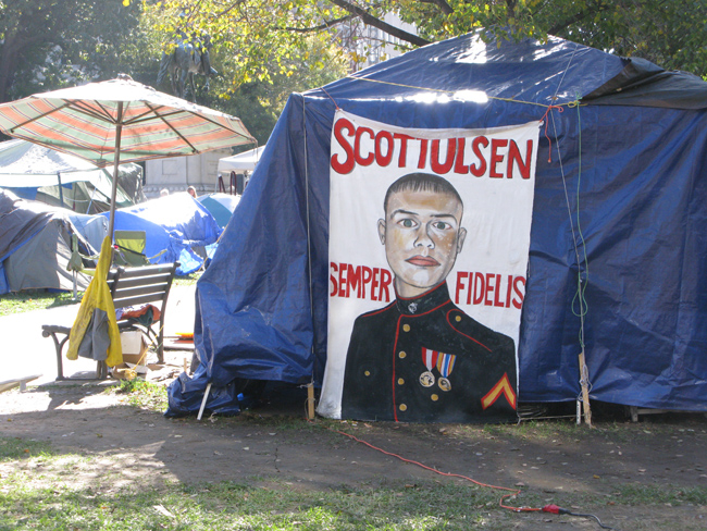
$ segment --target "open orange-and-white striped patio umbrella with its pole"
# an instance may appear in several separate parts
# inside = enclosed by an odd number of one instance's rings
[[[124,74],[2,103],[0,131],[115,169],[121,162],[256,143],[239,119],[159,92]],[[110,235],[116,185],[114,175]]]

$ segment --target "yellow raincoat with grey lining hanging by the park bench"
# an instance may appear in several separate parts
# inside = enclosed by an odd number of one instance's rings
[[[96,274],[86,288],[69,335],[66,357],[76,359],[89,357],[106,360],[109,367],[123,362],[121,333],[115,320],[115,307],[108,287],[108,271],[112,260],[111,237],[106,236],[101,245]]]

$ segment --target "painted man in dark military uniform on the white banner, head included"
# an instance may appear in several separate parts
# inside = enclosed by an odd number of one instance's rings
[[[395,300],[359,316],[344,374],[342,418],[498,422],[516,418],[513,341],[449,298],[463,248],[463,202],[445,178],[410,173],[384,199],[377,232]]]

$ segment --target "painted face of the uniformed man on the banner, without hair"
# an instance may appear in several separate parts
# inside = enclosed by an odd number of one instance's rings
[[[388,197],[379,235],[401,297],[415,297],[451,271],[467,236],[462,206],[449,194],[401,190]]]

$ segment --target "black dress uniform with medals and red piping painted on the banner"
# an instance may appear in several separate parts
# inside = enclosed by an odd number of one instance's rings
[[[446,283],[354,324],[342,418],[513,421],[516,396],[513,341],[457,308]]]

